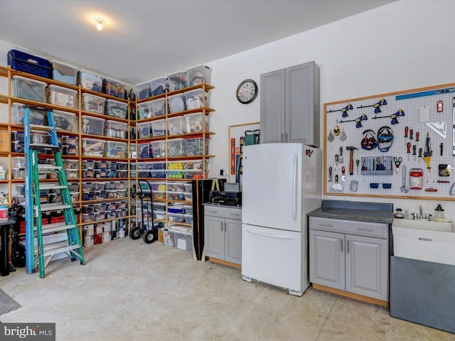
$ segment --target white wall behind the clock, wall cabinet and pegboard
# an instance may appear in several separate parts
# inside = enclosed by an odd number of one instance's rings
[[[321,68],[323,145],[326,102],[455,82],[453,13],[455,1],[397,1],[208,63],[213,68],[211,103],[216,110],[210,119],[210,130],[216,132],[210,142],[216,156],[210,161],[212,175],[229,169],[228,126],[259,121],[259,97],[247,105],[235,98],[240,81],[252,78],[259,84],[259,75],[264,72],[315,60]],[[352,200],[392,202],[395,208],[404,211],[407,207],[410,212],[417,212],[422,205],[424,213],[430,214],[440,202],[446,217],[455,220],[455,202],[451,201]]]

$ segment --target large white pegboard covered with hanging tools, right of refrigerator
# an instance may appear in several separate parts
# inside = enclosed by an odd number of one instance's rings
[[[455,83],[326,103],[324,117],[325,195],[455,200]]]

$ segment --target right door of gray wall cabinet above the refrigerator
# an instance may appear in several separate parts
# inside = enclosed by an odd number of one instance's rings
[[[314,145],[316,138],[319,141],[319,115],[315,115],[314,103],[314,70],[314,62],[286,69],[287,142]]]

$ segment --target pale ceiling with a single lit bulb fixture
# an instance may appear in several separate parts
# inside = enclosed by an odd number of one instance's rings
[[[135,85],[390,2],[4,0],[0,40]]]

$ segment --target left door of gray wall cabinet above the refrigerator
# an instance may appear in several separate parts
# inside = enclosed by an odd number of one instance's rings
[[[261,144],[286,142],[284,87],[284,69],[261,75]]]

